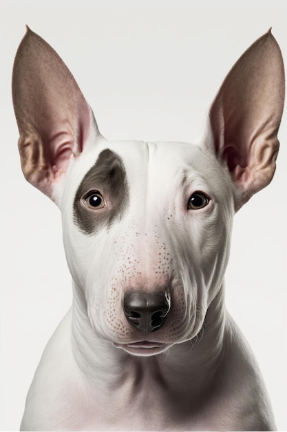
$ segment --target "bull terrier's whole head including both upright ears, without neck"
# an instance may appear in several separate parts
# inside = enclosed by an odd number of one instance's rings
[[[75,295],[138,355],[198,335],[233,214],[275,172],[284,67],[270,32],[227,75],[194,144],[107,141],[60,57],[28,29],[14,62],[23,173],[61,208]]]

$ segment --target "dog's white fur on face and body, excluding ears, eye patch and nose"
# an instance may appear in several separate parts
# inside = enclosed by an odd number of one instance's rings
[[[87,236],[75,226],[71,206],[79,181],[104,148],[123,158],[131,206],[108,235]],[[188,211],[183,203],[195,190],[204,190],[211,206]],[[262,386],[257,366],[222,307],[231,190],[227,170],[191,144],[102,141],[74,162],[61,201],[74,302],[43,354],[21,429],[253,429],[257,413],[248,413],[248,393],[253,409],[272,421],[255,394]],[[150,337],[164,347],[130,355],[127,344],[142,334],[127,323],[123,294],[130,286],[152,290],[166,280],[173,310]],[[208,307],[211,328],[202,337]],[[198,344],[191,342],[196,335]],[[217,367],[225,373],[209,389]],[[204,386],[206,402],[193,413]]]

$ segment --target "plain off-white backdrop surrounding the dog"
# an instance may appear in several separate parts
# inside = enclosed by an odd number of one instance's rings
[[[287,59],[286,1],[79,3],[0,3],[1,430],[19,429],[39,357],[71,303],[59,210],[25,182],[17,152],[10,79],[25,23],[63,57],[109,139],[195,139],[222,79],[270,26]],[[235,217],[226,303],[287,430],[286,114],[279,138],[272,184]]]

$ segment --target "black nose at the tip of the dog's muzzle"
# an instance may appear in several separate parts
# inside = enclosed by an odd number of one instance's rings
[[[138,331],[156,331],[167,318],[171,308],[171,296],[166,291],[129,291],[125,293],[123,308],[127,320]]]

